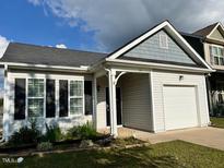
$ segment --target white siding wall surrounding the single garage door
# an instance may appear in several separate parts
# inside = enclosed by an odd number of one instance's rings
[[[182,75],[182,80],[179,76]],[[197,97],[197,112],[199,127],[209,124],[209,109],[205,87],[205,76],[203,74],[189,74],[180,72],[164,72],[153,71],[153,97],[154,97],[154,132],[163,132],[165,130],[165,115],[164,115],[164,85],[177,86],[194,86]],[[175,104],[175,103],[174,103]],[[182,107],[188,108],[188,107]],[[181,111],[180,111],[181,112]]]

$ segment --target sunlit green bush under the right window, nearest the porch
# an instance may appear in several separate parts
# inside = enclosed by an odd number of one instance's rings
[[[68,131],[67,136],[70,139],[94,140],[97,136],[97,132],[93,128],[93,124],[87,122],[83,125],[71,128]]]

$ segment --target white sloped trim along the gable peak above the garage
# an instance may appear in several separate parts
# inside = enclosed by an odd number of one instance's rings
[[[186,41],[186,39],[167,21],[161,23],[156,27],[152,28],[148,33],[140,36],[139,38],[134,39],[132,43],[130,43],[127,46],[122,47],[121,49],[119,49],[118,51],[116,51],[115,53],[109,56],[106,60],[109,60],[109,59],[111,60],[111,59],[118,58],[119,56],[121,56],[122,53],[125,53],[126,51],[128,51],[129,49],[131,49],[135,45],[140,44],[141,41],[143,41],[144,39],[146,39],[148,37],[150,37],[151,35],[153,35],[154,33],[158,32],[162,28],[166,28],[166,29],[170,31],[172,33],[174,33],[174,35],[176,35],[176,37],[178,39],[180,39],[180,43],[182,43],[182,45],[188,49],[188,52],[190,55],[193,55],[209,70],[212,70],[210,68],[210,65],[199,56],[199,53]]]

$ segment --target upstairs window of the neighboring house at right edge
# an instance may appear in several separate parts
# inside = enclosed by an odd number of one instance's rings
[[[216,65],[224,65],[224,51],[223,47],[210,46],[211,62]]]

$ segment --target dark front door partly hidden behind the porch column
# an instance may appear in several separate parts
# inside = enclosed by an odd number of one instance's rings
[[[119,124],[122,124],[120,87],[116,88],[116,103],[117,103],[117,124],[119,125]],[[108,87],[106,87],[106,118],[107,118],[107,125],[110,125],[109,88]]]

